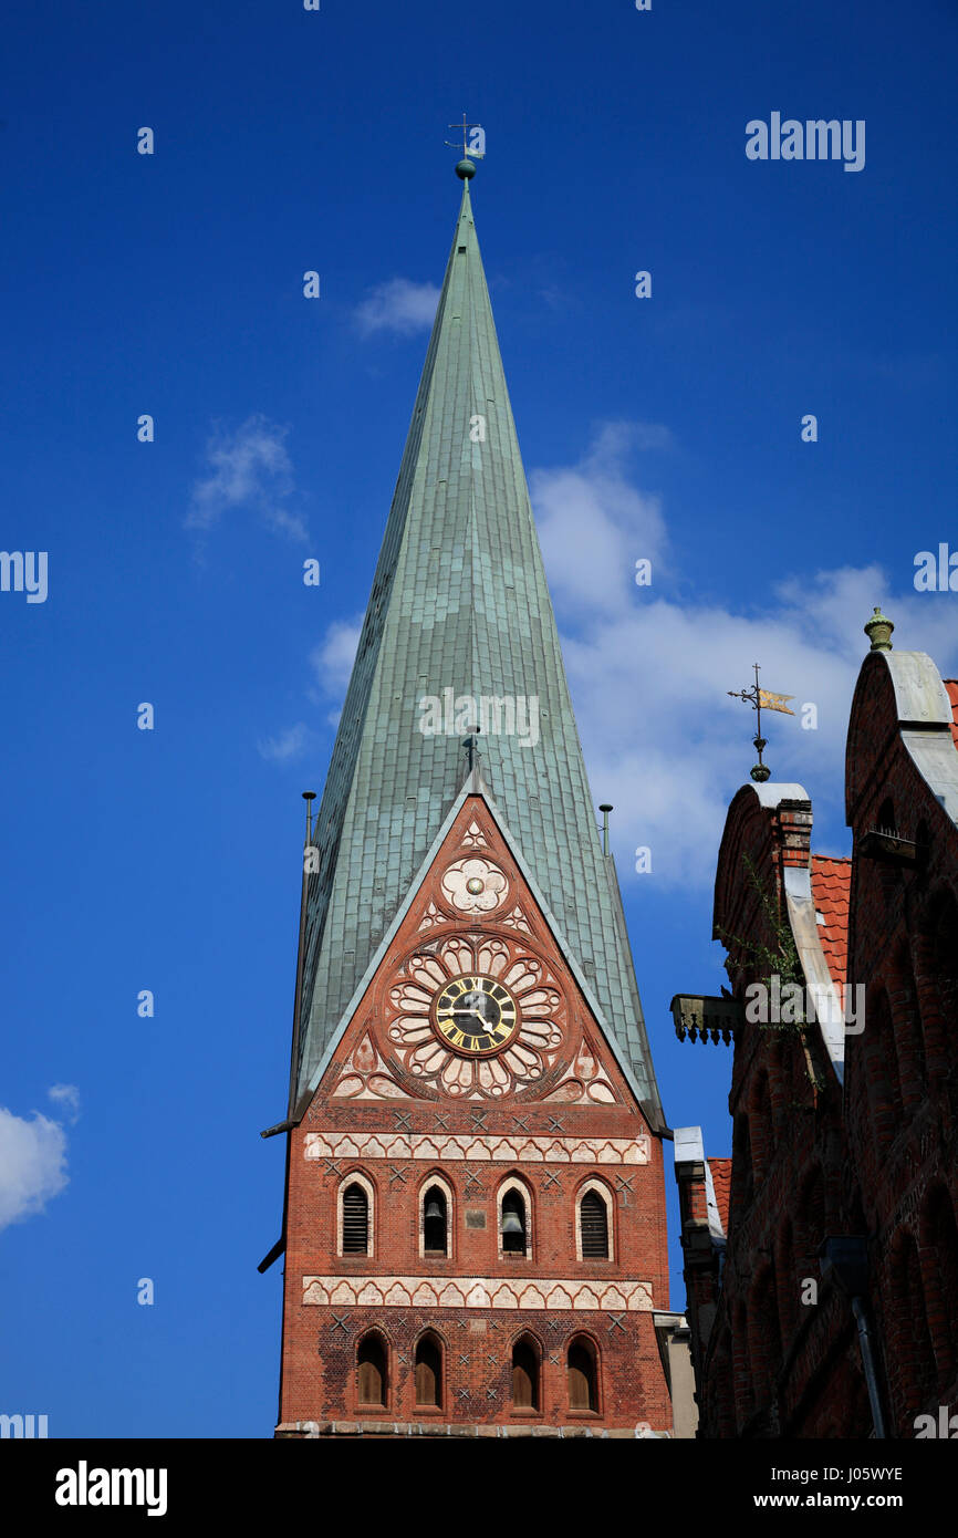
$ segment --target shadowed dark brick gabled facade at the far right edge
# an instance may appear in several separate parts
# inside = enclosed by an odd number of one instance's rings
[[[849,1052],[846,1204],[870,1237],[889,1415],[958,1412],[958,752],[953,681],[873,652],[849,726],[855,835],[849,977],[867,1024]],[[892,829],[898,849],[872,831]],[[853,1175],[852,1175],[853,1170]]]

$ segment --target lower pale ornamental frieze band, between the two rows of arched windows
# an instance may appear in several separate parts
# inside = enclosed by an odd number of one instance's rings
[[[303,1277],[303,1303],[429,1309],[652,1309],[650,1281],[555,1281],[503,1277]]]

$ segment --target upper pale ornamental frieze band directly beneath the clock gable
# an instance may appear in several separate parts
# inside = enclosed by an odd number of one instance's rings
[[[647,1164],[649,1137],[560,1138],[497,1134],[308,1132],[306,1158],[487,1160],[541,1164]]]

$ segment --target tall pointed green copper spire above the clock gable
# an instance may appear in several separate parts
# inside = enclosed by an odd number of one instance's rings
[[[467,701],[494,697],[507,701],[500,724],[512,709],[517,729],[497,732],[492,715],[477,771],[660,1115],[475,235],[474,171],[457,166],[452,251],[315,824],[294,1104],[463,787],[463,740],[483,724]],[[424,732],[429,720],[438,729]]]

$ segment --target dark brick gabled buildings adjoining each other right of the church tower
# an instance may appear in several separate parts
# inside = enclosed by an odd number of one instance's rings
[[[744,786],[715,881],[732,998],[674,1000],[680,1035],[735,1043],[727,1223],[698,1129],[675,1134],[701,1436],[915,1436],[958,1410],[958,684],[866,629],[852,858],[810,854],[801,786]],[[806,1024],[757,1018],[775,975],[783,1003],[813,994]],[[826,1240],[850,1243],[823,1266]]]

